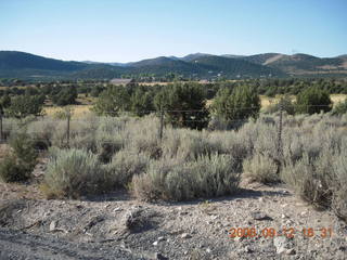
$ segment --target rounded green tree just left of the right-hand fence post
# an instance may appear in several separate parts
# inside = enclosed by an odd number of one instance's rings
[[[239,86],[231,91],[220,89],[211,105],[213,112],[224,120],[240,120],[257,117],[260,110],[260,99],[254,88]]]

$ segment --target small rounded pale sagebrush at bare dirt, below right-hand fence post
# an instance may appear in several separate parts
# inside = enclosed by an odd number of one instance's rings
[[[273,183],[280,181],[279,165],[269,156],[255,154],[243,161],[243,173],[253,181]]]

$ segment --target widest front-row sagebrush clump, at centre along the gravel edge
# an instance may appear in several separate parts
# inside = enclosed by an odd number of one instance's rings
[[[145,173],[132,179],[140,199],[187,200],[237,191],[240,174],[227,155],[202,156],[185,164],[152,161]]]

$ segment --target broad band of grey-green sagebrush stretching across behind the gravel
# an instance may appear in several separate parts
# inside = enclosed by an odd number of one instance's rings
[[[285,182],[313,205],[347,216],[347,115],[283,113],[283,158],[278,153],[279,119],[279,114],[260,115],[223,131],[166,125],[159,140],[155,115],[73,118],[70,151],[56,148],[66,146],[64,119],[53,123],[49,117],[5,119],[4,127],[13,134],[27,129],[30,138],[52,144],[44,190],[55,196],[78,197],[126,186],[142,199],[213,197],[235,191],[243,172],[261,182]],[[13,150],[15,159],[1,164],[7,172],[17,172],[25,164],[33,167],[34,157],[23,151],[17,152],[22,158]]]

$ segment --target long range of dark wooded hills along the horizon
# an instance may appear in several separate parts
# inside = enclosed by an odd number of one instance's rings
[[[115,77],[163,77],[178,74],[194,79],[265,78],[290,76],[347,76],[347,55],[316,57],[285,55],[211,55],[194,53],[183,57],[160,56],[132,63],[66,62],[25,52],[0,51],[0,78],[34,80],[111,79]]]

